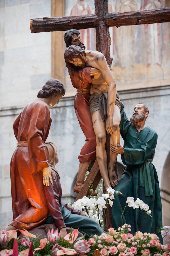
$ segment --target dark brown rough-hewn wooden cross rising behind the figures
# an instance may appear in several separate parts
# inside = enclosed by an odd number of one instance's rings
[[[95,14],[36,18],[30,20],[30,28],[32,33],[65,31],[72,28],[96,28],[96,50],[105,55],[106,60],[111,67],[112,59],[110,58],[109,44],[110,26],[119,27],[160,22],[170,22],[169,8],[108,13],[108,0],[95,0]],[[106,151],[109,152],[109,138],[106,138]],[[77,199],[82,198],[83,195],[87,194],[90,180],[92,180],[93,188],[95,190],[100,179],[101,175],[98,169],[98,164],[97,161],[95,161]]]

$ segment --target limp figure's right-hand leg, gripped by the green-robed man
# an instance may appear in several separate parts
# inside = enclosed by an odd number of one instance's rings
[[[113,133],[110,136],[110,145],[114,145],[116,147],[117,147],[117,144],[120,144],[120,133],[119,133],[120,119],[121,119],[120,109],[117,105],[115,105],[114,110],[113,110],[113,125],[112,125]],[[116,173],[114,171],[116,158],[117,158],[117,154],[114,154],[110,150],[110,162],[109,162],[109,166],[108,166],[108,172],[109,172],[110,184],[112,185],[112,187],[115,187],[118,183],[118,179],[117,179]]]

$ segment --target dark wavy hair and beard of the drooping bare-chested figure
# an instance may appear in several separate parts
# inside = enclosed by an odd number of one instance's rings
[[[86,56],[85,50],[79,46],[71,45],[64,51],[64,60],[66,62],[66,67],[70,69],[72,76],[74,77],[74,72],[77,69],[80,69],[80,67],[76,67],[74,64],[70,63],[70,61],[73,61],[73,58],[79,57],[84,62],[84,56]]]

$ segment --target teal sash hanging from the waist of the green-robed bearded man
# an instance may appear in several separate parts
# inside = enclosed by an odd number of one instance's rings
[[[143,164],[139,165],[140,170],[140,186],[145,188],[145,196],[153,196],[152,181],[150,177],[149,164],[152,164],[152,159],[146,160]]]

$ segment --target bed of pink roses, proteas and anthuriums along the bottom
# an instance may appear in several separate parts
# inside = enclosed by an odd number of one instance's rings
[[[169,256],[170,245],[161,245],[156,234],[136,232],[131,234],[131,226],[124,224],[118,230],[110,228],[108,234],[91,236],[88,240],[77,238],[78,230],[71,230],[64,238],[60,237],[58,230],[48,231],[48,240],[39,238],[25,230],[20,230],[24,237],[17,238],[19,256],[28,255],[32,247],[34,256],[60,256],[60,255],[94,255],[94,256]],[[13,254],[13,243],[17,232],[6,230],[0,232],[0,255]],[[10,239],[10,240],[9,240]],[[15,254],[16,255],[16,254]]]

